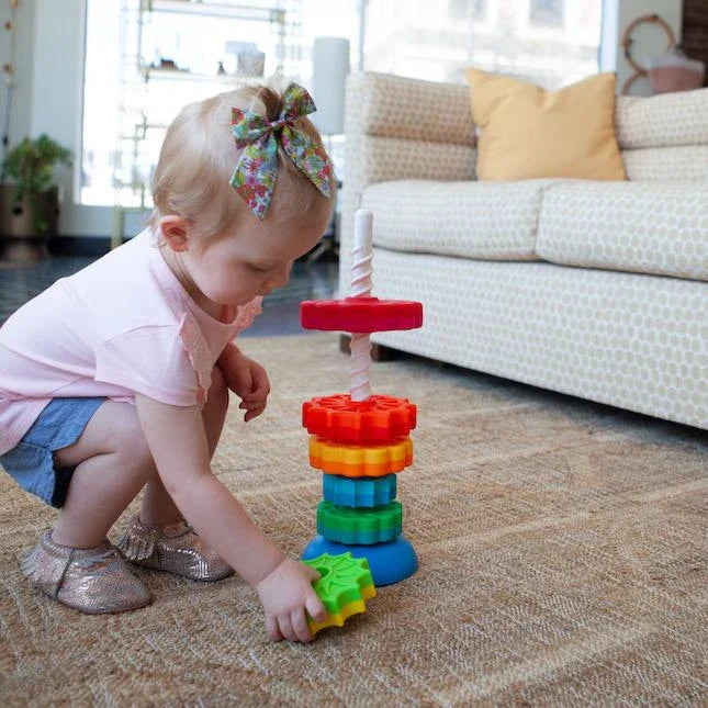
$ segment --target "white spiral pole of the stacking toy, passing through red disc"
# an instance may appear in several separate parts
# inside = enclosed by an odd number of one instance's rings
[[[351,263],[351,296],[371,297],[371,236],[373,214],[359,209],[355,214],[353,260]],[[351,333],[351,385],[352,401],[366,401],[371,395],[371,338],[369,333]]]

